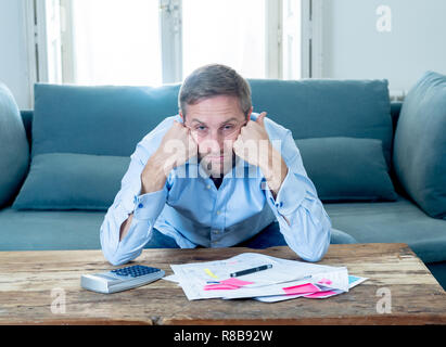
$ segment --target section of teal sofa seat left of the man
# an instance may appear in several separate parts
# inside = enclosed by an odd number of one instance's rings
[[[0,250],[100,249],[105,211],[0,210]]]

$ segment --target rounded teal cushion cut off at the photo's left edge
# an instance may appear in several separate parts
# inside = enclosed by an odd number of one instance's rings
[[[17,193],[28,170],[29,146],[17,104],[0,83],[0,207]]]

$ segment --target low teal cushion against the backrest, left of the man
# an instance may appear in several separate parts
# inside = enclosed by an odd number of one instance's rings
[[[120,188],[129,157],[39,154],[13,204],[16,209],[106,210]]]

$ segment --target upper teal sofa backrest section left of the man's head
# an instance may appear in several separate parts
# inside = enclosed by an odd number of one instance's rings
[[[129,156],[150,130],[177,113],[179,87],[37,83],[31,156],[44,153]]]

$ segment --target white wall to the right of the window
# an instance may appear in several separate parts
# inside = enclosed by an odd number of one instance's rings
[[[445,0],[324,0],[327,78],[386,78],[408,90],[426,69],[446,74]],[[377,8],[388,5],[392,31],[377,30]]]

